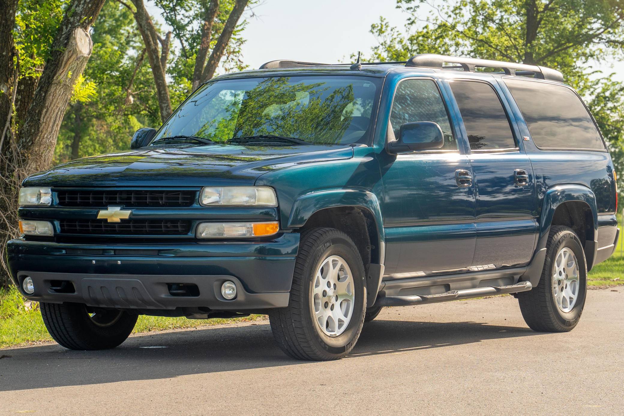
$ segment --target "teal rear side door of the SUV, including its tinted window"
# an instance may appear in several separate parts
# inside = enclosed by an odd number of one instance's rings
[[[499,85],[453,79],[449,87],[470,146],[477,241],[471,270],[527,264],[538,232],[535,176]]]

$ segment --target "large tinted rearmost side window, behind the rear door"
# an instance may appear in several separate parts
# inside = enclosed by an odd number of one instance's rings
[[[574,91],[545,82],[505,79],[539,147],[605,150],[592,117]]]

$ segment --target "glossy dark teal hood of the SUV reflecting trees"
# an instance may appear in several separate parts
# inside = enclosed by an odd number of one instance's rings
[[[351,146],[175,146],[84,157],[28,177],[24,186],[253,185],[268,171],[349,159]]]

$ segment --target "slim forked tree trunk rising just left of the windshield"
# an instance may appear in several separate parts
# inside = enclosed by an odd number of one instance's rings
[[[167,34],[165,39],[162,39],[158,36],[154,22],[152,22],[152,18],[145,9],[143,0],[132,0],[132,3],[137,9],[137,11],[134,12],[134,19],[137,21],[137,27],[139,28],[139,32],[145,44],[145,50],[147,51],[147,59],[152,68],[156,95],[158,97],[158,108],[160,109],[160,119],[164,122],[172,112],[165,72],[167,69],[171,32]],[[160,52],[159,43],[162,44],[162,52]]]

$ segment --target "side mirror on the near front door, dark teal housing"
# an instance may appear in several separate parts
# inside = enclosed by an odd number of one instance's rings
[[[399,137],[388,142],[390,154],[409,151],[437,150],[444,146],[444,134],[440,126],[432,121],[416,121],[401,124]]]

